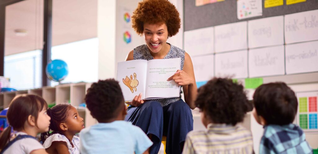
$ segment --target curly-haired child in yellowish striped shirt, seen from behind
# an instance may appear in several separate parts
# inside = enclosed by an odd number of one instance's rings
[[[253,153],[251,132],[237,125],[251,108],[242,85],[213,78],[198,89],[195,104],[207,130],[189,132],[183,154]]]

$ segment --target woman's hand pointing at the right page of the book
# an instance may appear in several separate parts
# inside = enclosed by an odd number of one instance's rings
[[[194,79],[182,70],[177,70],[167,81],[170,80],[174,80],[179,86],[192,85],[194,83]]]

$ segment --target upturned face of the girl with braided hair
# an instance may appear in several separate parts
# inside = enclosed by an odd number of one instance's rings
[[[70,106],[70,109],[68,110],[65,123],[68,128],[67,131],[79,133],[79,131],[84,128],[84,119],[79,116],[77,109],[73,106]]]

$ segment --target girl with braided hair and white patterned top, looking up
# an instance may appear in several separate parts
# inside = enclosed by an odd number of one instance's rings
[[[51,117],[50,130],[41,134],[41,141],[47,153],[79,154],[79,137],[75,136],[84,128],[83,118],[70,104],[59,104],[47,109]]]

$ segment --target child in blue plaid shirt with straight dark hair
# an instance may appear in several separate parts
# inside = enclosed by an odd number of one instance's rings
[[[253,95],[253,115],[264,126],[259,153],[312,153],[305,134],[293,124],[297,98],[283,82],[259,86]]]

